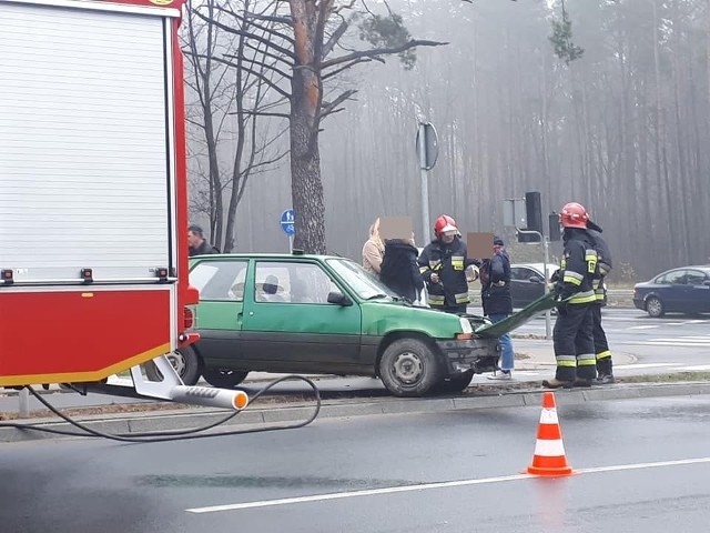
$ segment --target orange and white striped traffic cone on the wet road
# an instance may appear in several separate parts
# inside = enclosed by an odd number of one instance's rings
[[[528,466],[528,474],[545,476],[570,475],[572,469],[567,464],[565,444],[562,444],[562,431],[557,420],[555,406],[555,393],[542,393],[542,412],[537,430],[535,455],[532,464]]]

